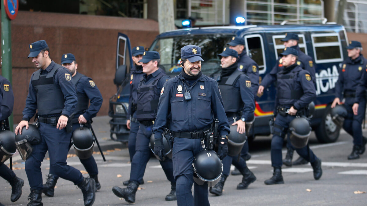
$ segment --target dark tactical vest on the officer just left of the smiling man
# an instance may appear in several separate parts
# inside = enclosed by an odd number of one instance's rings
[[[157,117],[159,93],[157,84],[161,77],[165,74],[160,72],[150,84],[144,85],[144,78],[138,85],[138,104],[137,104],[137,119],[154,120]]]

